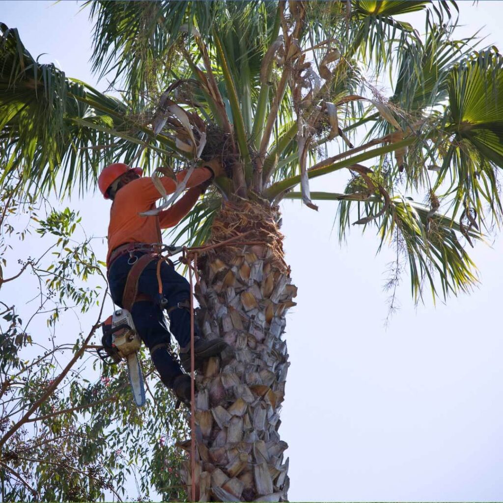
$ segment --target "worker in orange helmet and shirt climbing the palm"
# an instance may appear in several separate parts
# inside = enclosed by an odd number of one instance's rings
[[[104,198],[113,201],[107,255],[112,299],[115,304],[131,311],[136,330],[150,350],[161,381],[185,403],[190,403],[191,398],[190,377],[183,373],[169,350],[170,332],[162,310],[167,309],[170,330],[180,345],[180,360],[185,370],[190,371],[191,320],[187,307],[192,292],[188,281],[175,271],[173,265],[159,262],[160,229],[177,225],[221,171],[222,166],[216,159],[196,168],[187,182],[189,190],[185,195],[169,209],[147,217],[139,213],[155,208],[155,202],[161,196],[150,177],[141,177],[140,168],[110,164],[98,179]],[[181,182],[185,175],[186,172],[178,173],[178,181]],[[172,178],[160,177],[159,180],[167,194],[175,192],[176,184]],[[222,340],[202,339],[197,324],[194,324],[196,362],[216,356],[226,347]]]

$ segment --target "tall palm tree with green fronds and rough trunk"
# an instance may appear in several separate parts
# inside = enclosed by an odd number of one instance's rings
[[[0,182],[21,176],[33,192],[64,195],[94,187],[117,159],[154,177],[159,165],[222,160],[225,176],[176,229],[191,245],[217,245],[197,260],[198,322],[233,347],[196,378],[196,498],[286,500],[282,334],[296,287],[278,204],[339,201],[340,236],[351,224],[377,230],[379,248],[391,243],[408,264],[416,301],[425,286],[434,298],[469,291],[466,242],[501,221],[502,57],[454,39],[455,4],[86,6],[108,94],[39,64],[15,29],[0,28]],[[424,36],[397,19],[414,11],[425,13]],[[390,98],[367,72],[390,72]],[[340,192],[309,190],[343,170]],[[189,467],[183,475],[190,486]]]

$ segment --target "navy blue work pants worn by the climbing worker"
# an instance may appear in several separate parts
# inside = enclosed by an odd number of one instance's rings
[[[142,252],[135,251],[134,255],[140,257]],[[131,262],[129,254],[122,255],[112,263],[108,271],[112,299],[121,307],[127,276],[132,267],[128,261]],[[156,268],[157,261],[151,261],[141,273],[138,281],[138,293],[148,295],[152,302],[135,302],[131,309],[136,330],[150,350],[155,346],[170,343],[170,331],[166,327],[164,313],[156,302],[159,300]],[[175,307],[179,302],[190,299],[189,282],[165,261],[161,263],[160,278],[162,294],[167,300],[166,308]],[[187,346],[190,343],[190,312],[187,309],[177,308],[173,309],[168,316],[171,333],[181,347]],[[197,325],[194,326],[194,330],[197,335]],[[183,373],[178,361],[167,350],[167,346],[159,347],[152,353],[152,362],[166,386],[172,387],[174,379]]]

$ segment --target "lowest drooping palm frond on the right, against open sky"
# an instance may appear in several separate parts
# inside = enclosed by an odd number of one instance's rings
[[[350,184],[349,195],[354,190],[354,184]],[[349,225],[358,222],[351,222],[351,208],[355,204],[358,221],[362,221],[383,209],[385,203],[381,198],[365,202],[344,198],[338,209],[341,239],[346,237]],[[450,294],[469,291],[478,281],[475,264],[460,238],[471,242],[482,239],[482,235],[475,228],[463,227],[431,206],[395,196],[388,201],[382,216],[371,219],[365,227],[377,229],[380,236],[378,250],[385,243],[391,244],[397,249],[397,260],[408,264],[411,293],[416,301],[422,299],[425,284],[429,285],[434,299],[440,294],[445,299]]]

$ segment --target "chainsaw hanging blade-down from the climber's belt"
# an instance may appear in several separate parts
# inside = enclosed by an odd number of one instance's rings
[[[98,350],[98,355],[107,365],[120,363],[122,359],[126,360],[134,402],[141,407],[145,404],[145,388],[138,360],[141,339],[134,326],[131,313],[126,309],[117,309],[105,320],[102,329],[103,348]]]

